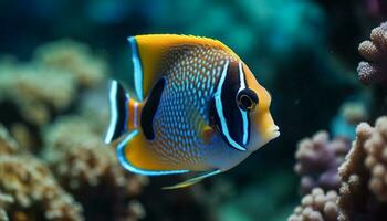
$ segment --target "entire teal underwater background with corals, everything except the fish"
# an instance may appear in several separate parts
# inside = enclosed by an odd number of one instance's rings
[[[385,0],[0,1],[0,220],[387,220],[386,20]],[[229,45],[281,136],[186,189],[125,171],[107,82],[147,33]]]

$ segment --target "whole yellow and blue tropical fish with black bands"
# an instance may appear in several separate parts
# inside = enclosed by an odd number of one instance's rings
[[[280,135],[270,94],[220,41],[176,34],[128,41],[135,97],[112,81],[105,137],[127,170],[202,172],[166,189],[187,187],[233,168]]]

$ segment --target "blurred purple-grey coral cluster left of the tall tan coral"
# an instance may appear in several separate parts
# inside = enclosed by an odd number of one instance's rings
[[[302,193],[308,193],[315,187],[338,190],[337,168],[349,147],[346,139],[330,140],[326,131],[318,131],[312,138],[302,139],[295,152],[297,162],[294,167],[295,172],[302,177]]]

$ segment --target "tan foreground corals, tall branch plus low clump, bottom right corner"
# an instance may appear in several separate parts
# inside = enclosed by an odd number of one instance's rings
[[[303,198],[302,206],[294,210],[294,214],[289,220],[385,220],[387,215],[386,144],[387,116],[379,117],[375,127],[360,123],[356,129],[356,140],[338,168],[341,178],[338,197],[335,191],[330,193],[335,196],[335,200],[330,203],[332,215],[326,217],[326,210],[323,210],[322,204],[325,203],[323,191],[313,189],[312,196]],[[316,201],[324,203],[316,203]]]

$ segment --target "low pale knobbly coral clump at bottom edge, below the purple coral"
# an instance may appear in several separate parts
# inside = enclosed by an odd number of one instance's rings
[[[294,209],[294,213],[287,221],[336,221],[338,215],[337,192],[315,188],[312,193],[303,197],[301,206]]]

